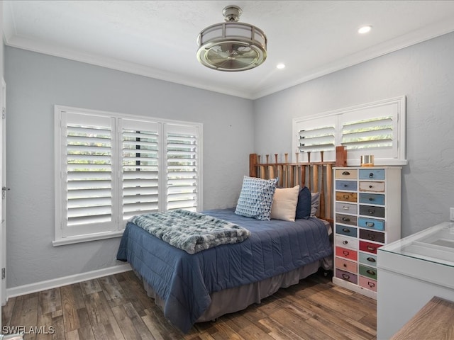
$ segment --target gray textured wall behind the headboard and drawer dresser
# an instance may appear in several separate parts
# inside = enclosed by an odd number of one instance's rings
[[[256,100],[255,152],[293,152],[292,118],[402,95],[402,237],[414,234],[454,207],[454,33]]]

